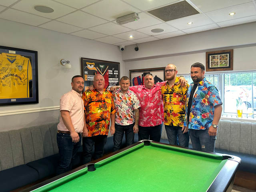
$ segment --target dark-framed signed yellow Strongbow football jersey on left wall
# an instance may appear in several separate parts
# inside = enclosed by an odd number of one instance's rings
[[[37,51],[0,46],[0,106],[36,103]]]

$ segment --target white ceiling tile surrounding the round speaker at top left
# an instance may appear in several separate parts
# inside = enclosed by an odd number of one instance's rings
[[[36,6],[36,5],[49,6],[50,8],[54,9],[54,12],[52,12],[52,13],[39,12],[34,9],[34,6]],[[69,6],[66,6],[66,5],[51,1],[51,0],[22,0],[22,1],[18,2],[17,4],[15,4],[14,6],[12,6],[12,8],[22,10],[25,12],[29,12],[32,14],[36,14],[39,16],[43,16],[46,18],[50,18],[50,19],[58,18],[60,16],[66,15],[66,14],[76,10],[74,8],[71,8]]]

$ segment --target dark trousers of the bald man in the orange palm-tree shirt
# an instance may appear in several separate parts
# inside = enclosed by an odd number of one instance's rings
[[[92,160],[92,149],[94,146],[93,159],[101,158],[104,153],[104,146],[107,142],[107,135],[96,135],[83,137],[82,163],[86,164]]]

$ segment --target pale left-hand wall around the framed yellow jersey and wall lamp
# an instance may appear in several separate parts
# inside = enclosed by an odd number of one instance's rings
[[[0,19],[0,45],[38,51],[39,104],[0,106],[0,113],[59,106],[60,96],[71,89],[71,78],[82,74],[81,57],[124,62],[118,46]],[[72,68],[60,64],[64,58]],[[0,116],[0,131],[58,122],[58,110]]]

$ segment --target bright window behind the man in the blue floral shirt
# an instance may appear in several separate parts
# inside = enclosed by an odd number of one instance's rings
[[[190,74],[183,74],[188,83],[192,83]],[[243,118],[252,118],[256,114],[256,72],[220,72],[206,73],[205,77],[220,93],[223,102],[222,116],[236,117],[241,109]]]

